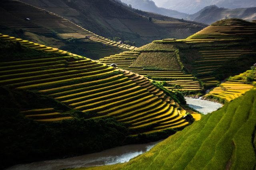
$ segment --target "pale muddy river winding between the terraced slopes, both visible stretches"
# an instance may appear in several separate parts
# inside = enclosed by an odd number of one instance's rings
[[[219,107],[222,107],[222,104],[207,100],[187,97],[185,99],[190,107],[204,114],[211,113],[212,111],[217,110]],[[7,170],[59,170],[63,168],[79,168],[123,163],[128,162],[131,158],[150,150],[159,142],[160,141],[138,145],[126,145],[103,150],[102,152],[85,154],[66,159],[46,160],[33,162],[30,164],[18,164],[8,168]]]

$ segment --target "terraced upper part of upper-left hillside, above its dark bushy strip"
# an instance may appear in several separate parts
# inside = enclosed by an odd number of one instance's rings
[[[18,0],[1,1],[0,15],[2,16],[0,25],[6,27],[23,29],[59,39],[75,38],[90,42],[83,45],[83,48],[90,51],[88,56],[92,55],[96,58],[135,48],[96,35],[61,16]],[[107,46],[107,48],[103,46]]]

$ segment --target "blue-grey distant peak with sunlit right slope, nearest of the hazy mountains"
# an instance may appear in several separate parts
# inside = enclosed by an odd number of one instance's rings
[[[189,15],[186,20],[211,24],[218,20],[228,18],[240,18],[247,21],[256,20],[256,7],[230,10],[227,8],[218,8],[215,5],[206,6],[195,14]]]

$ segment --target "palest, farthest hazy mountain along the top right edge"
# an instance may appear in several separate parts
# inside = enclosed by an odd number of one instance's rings
[[[157,6],[184,12],[186,14],[194,14],[200,9],[209,5],[216,5],[221,8],[251,8],[256,7],[255,0],[155,0]]]

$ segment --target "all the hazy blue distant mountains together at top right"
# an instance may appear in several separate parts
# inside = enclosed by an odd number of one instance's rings
[[[243,3],[237,0],[234,1],[237,3],[233,3],[233,1],[231,2],[230,0],[222,0],[222,1],[180,0],[177,2],[174,2],[173,0],[168,0],[168,1],[160,0],[161,3],[159,1],[156,1],[158,2],[158,4],[162,4],[161,6],[163,6],[164,8],[160,8],[156,6],[155,2],[152,0],[121,0],[121,1],[127,6],[132,6],[132,8],[136,8],[138,10],[154,12],[164,16],[169,16],[169,17],[179,18],[179,19],[183,18],[186,20],[197,21],[197,22],[202,22],[206,24],[211,24],[218,20],[228,19],[228,18],[240,18],[247,21],[252,21],[256,19],[256,1],[254,0],[253,1],[245,0],[243,1]],[[172,6],[169,6],[170,2],[173,2]],[[209,4],[212,4],[212,5],[209,6]],[[221,8],[219,8],[217,5],[220,6]],[[225,6],[226,8],[222,6]],[[250,8],[245,8],[245,7],[250,7]],[[172,10],[169,10],[166,8],[169,8]],[[236,9],[232,9],[232,8],[236,8]],[[185,12],[187,14],[182,12]],[[190,13],[190,15],[188,15],[188,13]]]

